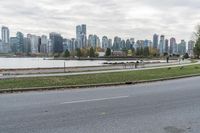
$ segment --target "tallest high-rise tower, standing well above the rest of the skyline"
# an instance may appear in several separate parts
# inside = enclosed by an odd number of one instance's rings
[[[76,26],[76,39],[78,41],[78,48],[87,47],[87,28],[85,24]]]

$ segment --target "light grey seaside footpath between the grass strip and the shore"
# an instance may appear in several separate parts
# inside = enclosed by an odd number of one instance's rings
[[[193,63],[193,64],[199,64]],[[0,75],[0,79],[11,79],[11,78],[28,78],[28,77],[54,77],[54,76],[72,76],[72,75],[85,75],[85,74],[99,74],[99,73],[113,73],[113,72],[126,72],[126,71],[138,71],[138,70],[148,70],[148,69],[157,69],[157,68],[168,68],[168,67],[177,67],[177,66],[187,66],[192,65],[189,60],[181,62],[179,64],[176,63],[159,63],[159,64],[147,64],[144,66],[139,65],[137,69],[133,68],[132,66],[127,66],[124,68],[122,65],[112,66],[109,69],[105,69],[108,67],[103,67],[102,69],[94,68],[93,71],[85,71],[85,72],[63,72],[63,73],[43,73],[43,74],[8,74],[8,75]],[[49,72],[49,71],[48,71]]]

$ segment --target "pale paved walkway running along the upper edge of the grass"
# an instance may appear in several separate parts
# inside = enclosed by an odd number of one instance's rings
[[[113,72],[129,72],[129,71],[138,71],[138,70],[149,70],[149,69],[158,69],[158,68],[168,68],[168,67],[177,67],[177,66],[188,66],[192,64],[200,64],[200,61],[197,63],[189,63],[185,61],[182,64],[178,63],[169,63],[169,64],[149,64],[145,67],[139,67],[137,69],[128,67],[127,69],[118,69],[118,70],[96,70],[91,72],[73,72],[73,73],[49,73],[49,74],[27,74],[27,75],[0,75],[0,79],[12,79],[12,78],[30,78],[30,77],[55,77],[55,76],[72,76],[72,75],[85,75],[85,74],[99,74],[99,73],[113,73]],[[121,66],[120,66],[121,67]]]

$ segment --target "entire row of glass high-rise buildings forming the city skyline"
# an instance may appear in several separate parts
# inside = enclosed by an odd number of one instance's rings
[[[101,48],[106,50],[110,48],[113,51],[131,50],[138,48],[153,48],[160,55],[184,55],[186,52],[192,56],[195,42],[189,41],[188,45],[184,40],[176,42],[174,37],[169,40],[164,35],[153,35],[153,40],[137,40],[129,38],[124,40],[121,37],[114,37],[114,40],[103,36],[102,39],[97,35],[87,36],[87,27],[85,24],[76,26],[76,38],[67,39],[61,34],[52,32],[49,37],[46,35],[37,36],[33,34],[24,35],[17,32],[15,37],[10,37],[8,27],[1,28],[0,53],[21,53],[21,54],[51,54],[62,53],[66,50],[75,51],[77,48]],[[188,48],[186,48],[188,46]]]

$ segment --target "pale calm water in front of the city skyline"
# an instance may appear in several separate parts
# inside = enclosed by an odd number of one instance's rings
[[[44,60],[43,58],[0,58],[0,69],[22,68],[55,68],[55,67],[85,67],[102,66],[105,62],[134,62],[134,61],[105,61],[105,60]],[[156,61],[157,62],[157,61]]]

